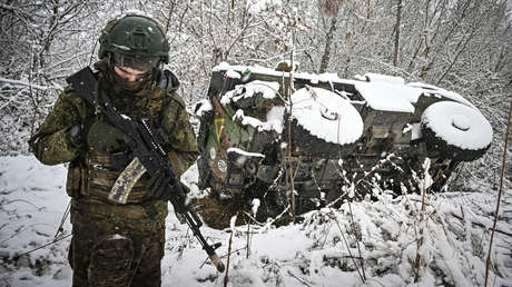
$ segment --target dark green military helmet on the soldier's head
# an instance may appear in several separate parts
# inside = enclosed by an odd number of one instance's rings
[[[132,58],[157,58],[169,62],[169,43],[164,28],[154,19],[128,13],[110,20],[99,38],[98,57],[122,55]]]

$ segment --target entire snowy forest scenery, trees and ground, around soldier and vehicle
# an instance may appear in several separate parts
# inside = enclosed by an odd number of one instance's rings
[[[65,192],[66,171],[38,164],[28,139],[66,89],[66,78],[98,61],[106,23],[128,12],[164,27],[166,68],[179,78],[196,131],[193,107],[207,97],[215,67],[274,69],[286,60],[299,72],[388,75],[455,91],[493,129],[485,155],[459,165],[446,192],[426,201],[383,192],[377,202],[344,201],[282,228],[235,226],[235,217],[224,230],[206,227],[206,236],[223,241],[221,259],[232,257],[229,276],[200,265],[203,250],[169,216],[164,286],[488,286],[489,270],[489,286],[510,286],[509,0],[1,0],[0,286],[70,285],[70,224],[62,219],[57,234],[52,226],[69,200],[57,196]],[[197,177],[194,166],[181,180],[204,196]],[[504,192],[496,214],[498,190]],[[491,227],[494,217],[500,220]],[[494,246],[491,231],[500,234]]]

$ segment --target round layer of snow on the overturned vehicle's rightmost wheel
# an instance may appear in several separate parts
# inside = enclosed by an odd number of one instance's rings
[[[429,106],[422,123],[447,144],[477,150],[491,145],[491,123],[474,108],[454,101],[440,101]]]

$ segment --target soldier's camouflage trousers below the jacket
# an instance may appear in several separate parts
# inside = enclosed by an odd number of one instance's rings
[[[72,200],[72,286],[160,286],[165,215],[147,209]]]

